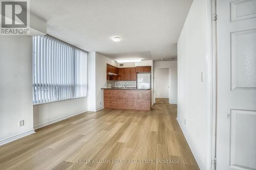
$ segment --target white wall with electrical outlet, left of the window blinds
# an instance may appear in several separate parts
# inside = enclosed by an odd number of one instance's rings
[[[33,132],[32,42],[30,36],[0,37],[0,144]]]

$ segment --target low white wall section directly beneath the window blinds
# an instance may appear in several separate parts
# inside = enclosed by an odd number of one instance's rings
[[[34,128],[41,128],[58,120],[86,112],[87,110],[87,98],[34,105]]]

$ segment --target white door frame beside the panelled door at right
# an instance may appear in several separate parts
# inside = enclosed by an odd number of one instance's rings
[[[216,18],[215,18],[216,16]],[[205,169],[216,168],[217,30],[216,0],[206,1],[206,140]]]

